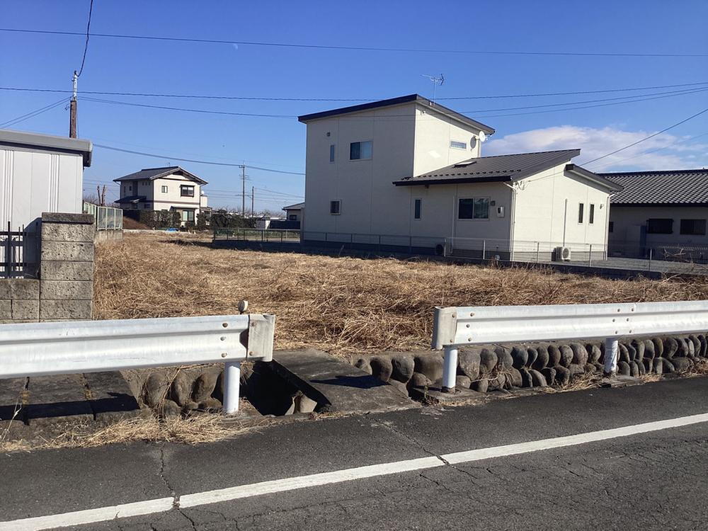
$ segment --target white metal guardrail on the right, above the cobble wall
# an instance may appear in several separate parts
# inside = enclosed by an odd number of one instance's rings
[[[452,390],[462,345],[604,338],[605,373],[612,374],[619,337],[706,330],[708,301],[436,307],[432,346],[445,350],[442,387]]]

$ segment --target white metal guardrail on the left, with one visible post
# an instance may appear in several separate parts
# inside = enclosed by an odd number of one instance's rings
[[[273,359],[270,314],[0,326],[0,379],[224,363],[224,412],[239,409],[241,362]]]

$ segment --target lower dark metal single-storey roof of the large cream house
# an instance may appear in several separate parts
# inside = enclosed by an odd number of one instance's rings
[[[394,184],[403,186],[516,181],[552,168],[556,164],[562,164],[579,154],[580,149],[562,149],[555,152],[479,156],[423,175],[402,178],[394,181]]]

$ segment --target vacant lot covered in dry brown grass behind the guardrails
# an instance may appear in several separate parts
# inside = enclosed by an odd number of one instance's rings
[[[98,319],[277,316],[276,348],[336,355],[427,348],[433,307],[708,298],[708,279],[606,280],[551,270],[210,249],[208,241],[126,234],[98,246]]]

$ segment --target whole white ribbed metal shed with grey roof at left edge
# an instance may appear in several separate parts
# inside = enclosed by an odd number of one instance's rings
[[[0,130],[0,227],[36,228],[42,212],[81,214],[89,140]]]

